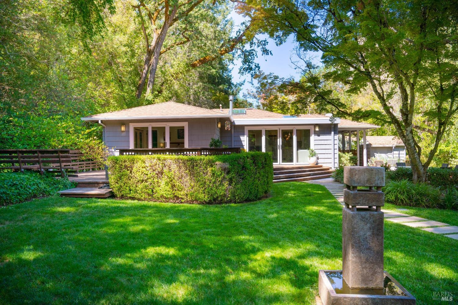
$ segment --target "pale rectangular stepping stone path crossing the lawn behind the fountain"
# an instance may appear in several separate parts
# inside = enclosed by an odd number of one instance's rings
[[[339,182],[335,182],[332,178],[324,178],[317,180],[305,181],[306,183],[320,184],[327,188],[331,194],[337,199],[337,201],[344,206],[344,188],[345,185]],[[398,209],[399,211],[408,211],[408,209]],[[416,216],[410,216],[398,212],[382,210],[384,217],[387,221],[399,223],[402,225],[408,225],[413,228],[424,228],[421,230],[428,231],[436,234],[448,234],[443,235],[452,239],[458,240],[458,226],[444,224],[442,222],[428,220]],[[430,227],[430,228],[428,228]],[[450,234],[454,233],[454,234]]]

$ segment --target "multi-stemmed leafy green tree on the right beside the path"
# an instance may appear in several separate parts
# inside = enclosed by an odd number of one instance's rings
[[[364,118],[376,112],[349,111],[323,84],[344,84],[349,94],[369,85],[406,146],[414,181],[425,181],[444,132],[458,112],[457,2],[282,1],[263,10],[269,11],[272,25],[280,32],[295,36],[303,51],[321,51],[323,64],[330,68],[319,77],[308,62],[294,86],[339,113]],[[400,100],[398,109],[395,96]],[[420,113],[418,100],[425,98],[431,100],[431,107]],[[419,115],[435,131],[425,160],[413,124]]]

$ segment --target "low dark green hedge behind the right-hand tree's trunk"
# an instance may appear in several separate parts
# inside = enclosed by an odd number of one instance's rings
[[[395,171],[387,171],[387,179],[400,181],[412,180],[410,167],[398,167]],[[434,187],[458,187],[458,170],[451,168],[429,167],[427,171],[428,183]]]

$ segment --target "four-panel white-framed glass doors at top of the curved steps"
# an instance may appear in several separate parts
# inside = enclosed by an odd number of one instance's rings
[[[245,149],[272,154],[273,164],[307,164],[313,126],[245,127]]]

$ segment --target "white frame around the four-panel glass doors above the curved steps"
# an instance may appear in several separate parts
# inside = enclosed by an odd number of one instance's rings
[[[299,126],[289,126],[289,125],[280,125],[280,126],[245,126],[245,141],[243,148],[248,151],[248,130],[261,130],[262,131],[262,151],[266,151],[266,129],[267,130],[278,130],[277,137],[277,149],[278,149],[278,162],[274,164],[308,164],[308,163],[298,163],[296,156],[296,130],[297,129],[310,129],[310,148],[315,148],[315,132],[313,125],[299,125]],[[281,131],[282,129],[293,129],[293,162],[282,163],[282,149],[281,149]]]

